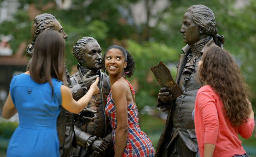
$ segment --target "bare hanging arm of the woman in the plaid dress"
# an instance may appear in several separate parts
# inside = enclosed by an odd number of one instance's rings
[[[112,97],[115,101],[117,128],[115,135],[116,151],[115,157],[124,154],[128,136],[128,117],[127,117],[127,87],[122,82],[115,82],[112,86]]]

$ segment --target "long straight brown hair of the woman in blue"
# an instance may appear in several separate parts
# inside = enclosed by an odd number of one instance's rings
[[[49,82],[52,78],[63,79],[65,41],[57,31],[44,31],[36,39],[32,63],[31,78],[38,83]]]

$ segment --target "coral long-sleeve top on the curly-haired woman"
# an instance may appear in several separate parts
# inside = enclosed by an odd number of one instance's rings
[[[233,157],[243,155],[245,150],[238,138],[250,138],[254,129],[254,120],[233,127],[226,118],[226,111],[220,95],[215,93],[211,86],[201,87],[195,100],[195,134],[198,140],[200,156],[204,156],[204,144],[214,144],[213,157]]]

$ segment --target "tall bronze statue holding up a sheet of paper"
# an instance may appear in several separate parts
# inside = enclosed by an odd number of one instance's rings
[[[172,92],[167,88],[159,90],[157,108],[167,111],[168,117],[157,145],[156,157],[196,156],[197,141],[191,114],[196,92],[201,87],[197,79],[198,63],[209,47],[222,47],[224,44],[224,36],[217,34],[214,13],[204,5],[193,5],[186,11],[180,32],[187,45],[182,48],[184,54],[180,55],[176,83],[183,94],[172,99]]]

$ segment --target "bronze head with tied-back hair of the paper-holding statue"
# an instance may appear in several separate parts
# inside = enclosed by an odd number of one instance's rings
[[[212,36],[218,46],[221,46],[221,43],[224,44],[224,36],[217,34],[218,30],[214,13],[205,5],[192,5],[186,11],[183,16],[183,25],[180,32],[183,33],[183,42],[189,45],[207,36]]]

